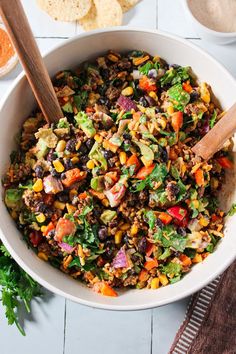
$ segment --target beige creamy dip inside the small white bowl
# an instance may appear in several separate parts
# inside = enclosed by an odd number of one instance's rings
[[[218,32],[236,32],[236,0],[188,0],[193,16]]]

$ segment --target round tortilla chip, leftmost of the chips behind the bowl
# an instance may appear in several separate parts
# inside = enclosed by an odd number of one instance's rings
[[[59,21],[76,21],[89,12],[91,0],[37,0],[39,7]]]

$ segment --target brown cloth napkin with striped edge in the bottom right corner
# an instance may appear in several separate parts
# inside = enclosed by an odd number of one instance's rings
[[[194,294],[169,354],[236,353],[236,261]]]

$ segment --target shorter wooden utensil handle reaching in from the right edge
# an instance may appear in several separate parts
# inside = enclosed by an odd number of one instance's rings
[[[208,160],[220,150],[227,139],[236,131],[236,103],[218,123],[193,148],[192,151]]]

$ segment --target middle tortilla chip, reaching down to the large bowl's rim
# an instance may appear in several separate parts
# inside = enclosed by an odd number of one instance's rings
[[[122,24],[122,9],[117,0],[94,0],[97,8],[97,23],[99,28],[120,26]]]

